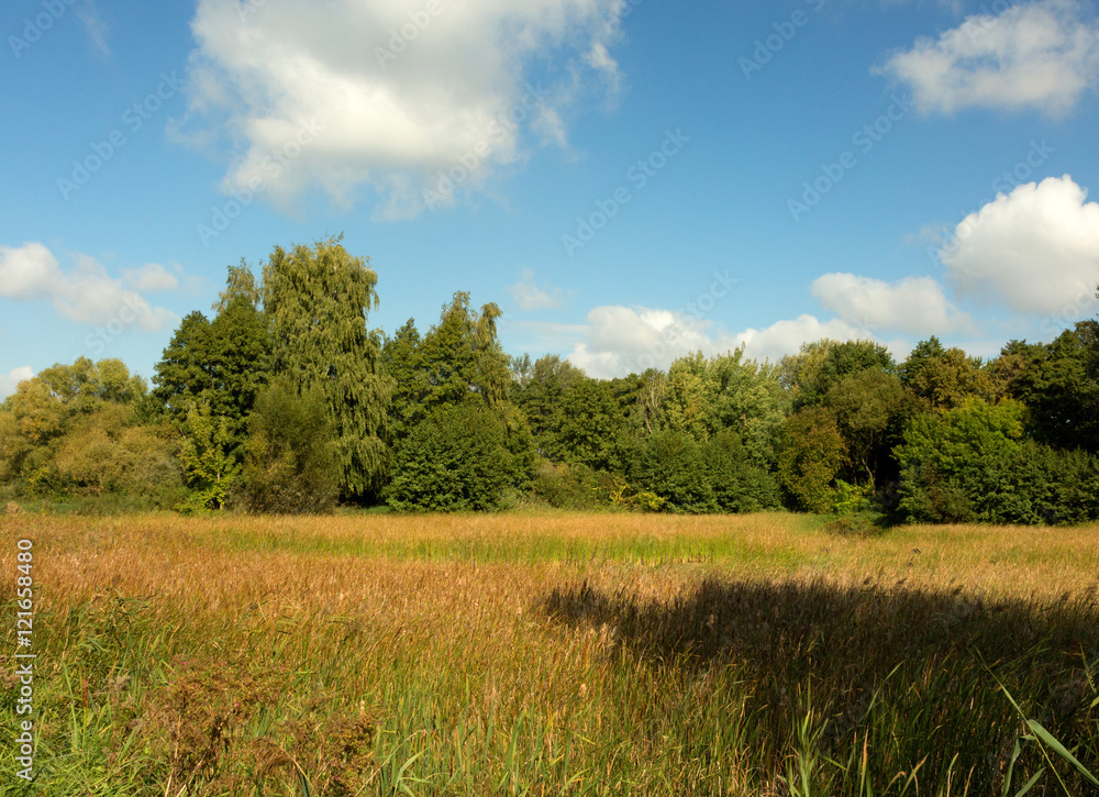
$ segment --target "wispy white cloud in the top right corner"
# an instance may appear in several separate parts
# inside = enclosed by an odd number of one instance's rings
[[[923,113],[969,107],[1064,114],[1099,77],[1099,23],[1078,0],[1012,5],[920,37],[876,74],[908,85]]]

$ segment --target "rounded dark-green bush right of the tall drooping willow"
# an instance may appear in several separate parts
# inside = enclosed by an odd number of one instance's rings
[[[397,446],[387,502],[400,511],[495,510],[519,469],[496,413],[473,402],[443,407]]]

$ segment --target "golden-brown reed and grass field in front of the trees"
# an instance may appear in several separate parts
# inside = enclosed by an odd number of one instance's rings
[[[0,676],[3,795],[1099,792],[1096,527],[0,523],[38,655],[30,785]]]

